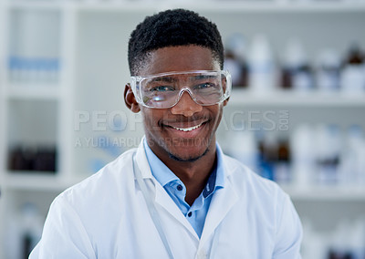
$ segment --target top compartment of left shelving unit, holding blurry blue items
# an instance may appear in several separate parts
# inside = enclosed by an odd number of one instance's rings
[[[59,10],[22,8],[9,12],[7,78],[11,84],[57,84],[61,21]]]

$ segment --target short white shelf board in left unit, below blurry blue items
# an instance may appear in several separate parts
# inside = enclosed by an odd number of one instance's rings
[[[60,87],[51,85],[11,85],[7,87],[7,97],[12,99],[57,100],[60,98]]]

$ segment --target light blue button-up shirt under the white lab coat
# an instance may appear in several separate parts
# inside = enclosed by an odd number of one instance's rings
[[[222,161],[222,150],[216,144],[216,166],[212,171],[206,183],[203,192],[190,206],[185,202],[186,188],[181,181],[150,149],[147,141],[143,142],[144,150],[146,150],[147,160],[149,161],[151,172],[157,181],[161,183],[163,188],[169,193],[173,202],[180,208],[189,223],[199,237],[202,236],[203,226],[209,205],[212,201],[213,194],[216,190],[224,188],[224,169]]]

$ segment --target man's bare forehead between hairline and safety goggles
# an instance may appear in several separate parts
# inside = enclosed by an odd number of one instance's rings
[[[141,64],[140,76],[172,71],[219,70],[219,62],[207,47],[162,47],[153,50]]]

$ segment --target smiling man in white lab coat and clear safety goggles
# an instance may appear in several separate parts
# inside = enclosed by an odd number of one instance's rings
[[[137,26],[124,98],[145,138],[57,197],[30,258],[300,258],[287,194],[215,142],[223,54],[216,26],[190,11]]]

